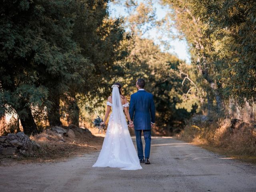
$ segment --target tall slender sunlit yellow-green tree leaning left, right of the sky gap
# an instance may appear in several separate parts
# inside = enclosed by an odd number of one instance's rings
[[[190,53],[193,64],[196,64],[199,73],[198,81],[206,92],[208,103],[208,114],[213,110],[213,101],[216,101],[218,112],[223,108],[222,98],[219,92],[220,80],[218,80],[219,70],[214,68],[214,58],[212,52],[211,39],[204,32],[204,23],[202,16],[194,15],[193,0],[162,0],[162,4],[170,6],[170,12],[167,17],[168,22],[174,23],[179,31],[179,38],[187,40],[190,46]],[[202,77],[202,78],[201,78]]]

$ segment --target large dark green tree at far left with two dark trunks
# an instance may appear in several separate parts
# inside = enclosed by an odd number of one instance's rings
[[[32,106],[47,106],[50,125],[60,124],[60,93],[86,62],[71,38],[75,5],[62,0],[1,4],[1,106],[16,111],[26,134],[36,132]]]

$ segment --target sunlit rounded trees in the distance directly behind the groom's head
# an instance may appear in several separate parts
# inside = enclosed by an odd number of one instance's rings
[[[144,78],[145,89],[154,95],[157,125],[170,131],[182,128],[184,119],[190,114],[183,108],[176,108],[176,104],[181,102],[180,98],[190,83],[182,86],[183,77],[179,70],[186,71],[189,66],[176,56],[161,52],[152,40],[134,36],[125,44],[129,50],[128,56],[121,61],[125,75],[114,80],[120,81],[124,94],[130,96],[136,91],[136,80]]]

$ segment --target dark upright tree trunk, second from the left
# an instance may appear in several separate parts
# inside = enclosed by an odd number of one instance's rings
[[[49,93],[49,101],[51,106],[48,108],[48,121],[50,126],[61,126],[60,121],[60,94],[54,92]]]

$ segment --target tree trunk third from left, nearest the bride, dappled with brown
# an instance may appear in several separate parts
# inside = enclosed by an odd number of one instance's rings
[[[79,127],[79,107],[75,96],[67,96],[66,103],[68,105],[67,121],[68,124],[74,124]]]

